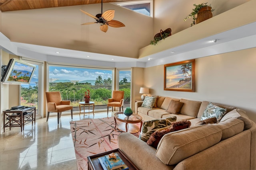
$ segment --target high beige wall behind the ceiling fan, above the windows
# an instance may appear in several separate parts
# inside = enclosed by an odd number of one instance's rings
[[[99,23],[81,25],[95,20],[80,9],[95,16],[101,4],[2,12],[1,32],[13,42],[131,58],[137,58],[138,50],[150,43],[151,17],[104,3],[103,12],[115,10],[114,20],[126,25],[109,27],[104,33]]]

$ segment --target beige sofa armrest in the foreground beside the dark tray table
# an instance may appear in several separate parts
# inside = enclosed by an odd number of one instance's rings
[[[165,165],[156,157],[155,148],[130,133],[118,135],[118,147],[140,170],[170,170],[174,168],[174,166]]]

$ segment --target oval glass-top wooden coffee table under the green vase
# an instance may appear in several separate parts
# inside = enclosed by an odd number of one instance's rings
[[[130,116],[124,115],[124,112],[116,112],[114,114],[115,120],[115,129],[119,129],[124,132],[129,133],[138,133],[142,127],[142,117],[138,114],[132,113]],[[118,122],[116,121],[118,120]],[[136,125],[136,123],[140,123],[140,127]]]

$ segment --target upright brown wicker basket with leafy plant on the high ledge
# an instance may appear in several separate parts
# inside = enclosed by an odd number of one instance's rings
[[[190,26],[193,26],[196,23],[200,23],[204,20],[212,18],[212,12],[214,11],[214,9],[212,9],[211,4],[207,5],[207,2],[198,5],[194,4],[194,7],[195,8],[192,9],[192,12],[183,20],[186,21],[188,18],[192,17],[193,21]]]

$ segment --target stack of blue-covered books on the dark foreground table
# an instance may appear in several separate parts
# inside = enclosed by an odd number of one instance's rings
[[[116,154],[116,153],[115,153]],[[104,170],[128,170],[128,166],[116,154],[115,158],[109,158],[108,155],[98,158]]]

